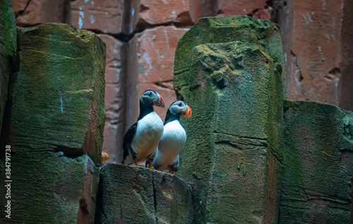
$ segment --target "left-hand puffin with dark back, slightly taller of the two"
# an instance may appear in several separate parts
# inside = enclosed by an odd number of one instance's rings
[[[124,135],[121,163],[138,166],[139,162],[148,161],[149,168],[153,168],[152,161],[164,130],[162,119],[153,106],[164,108],[164,100],[157,92],[147,89],[140,97],[140,116]]]

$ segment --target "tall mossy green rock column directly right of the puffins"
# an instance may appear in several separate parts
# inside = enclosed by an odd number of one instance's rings
[[[277,26],[203,18],[179,41],[175,65],[177,96],[193,109],[178,175],[195,183],[201,217],[275,223],[285,94]]]

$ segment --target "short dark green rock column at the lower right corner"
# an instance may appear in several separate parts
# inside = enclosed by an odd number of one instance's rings
[[[353,113],[285,102],[279,223],[352,223]]]

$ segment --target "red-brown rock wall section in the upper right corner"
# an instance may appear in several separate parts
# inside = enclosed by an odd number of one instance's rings
[[[352,1],[280,1],[278,8],[289,99],[353,110]]]

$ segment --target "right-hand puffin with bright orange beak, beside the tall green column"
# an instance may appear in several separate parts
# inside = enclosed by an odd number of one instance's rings
[[[155,170],[169,170],[172,175],[178,170],[179,154],[186,142],[186,132],[179,118],[191,118],[191,115],[191,108],[183,101],[175,101],[169,106],[164,119],[164,132],[152,162]]]

